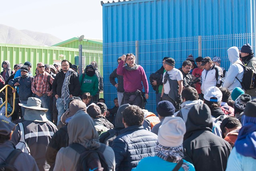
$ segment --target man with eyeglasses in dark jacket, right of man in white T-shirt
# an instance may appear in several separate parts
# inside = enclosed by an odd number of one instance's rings
[[[190,74],[190,70],[192,69],[192,62],[190,62],[189,60],[185,60],[182,64],[182,68],[179,68],[180,72],[183,75],[183,88],[186,87],[194,87],[193,84],[191,84],[191,82],[193,82],[192,80],[192,76]]]

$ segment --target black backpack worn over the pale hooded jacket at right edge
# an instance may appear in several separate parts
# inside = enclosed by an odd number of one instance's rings
[[[254,59],[253,59],[254,60]],[[251,60],[252,61],[252,60]],[[240,64],[242,65],[242,64]],[[244,68],[244,75],[242,82],[236,77],[236,80],[240,82],[242,88],[245,90],[254,89],[256,87],[256,72],[254,68],[242,65]]]

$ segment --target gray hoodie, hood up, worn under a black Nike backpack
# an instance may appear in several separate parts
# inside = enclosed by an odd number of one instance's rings
[[[86,149],[96,149],[100,147],[99,136],[94,127],[92,118],[85,115],[84,111],[79,110],[68,123],[69,144],[79,143]],[[114,151],[106,146],[102,151],[109,170],[115,170]],[[76,171],[78,165],[79,153],[71,147],[62,147],[58,151],[54,171]]]

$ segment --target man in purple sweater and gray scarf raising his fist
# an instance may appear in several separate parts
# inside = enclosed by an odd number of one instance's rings
[[[135,60],[134,54],[123,55],[116,70],[118,75],[124,77],[124,97],[121,105],[129,103],[144,109],[144,98],[148,99],[148,80],[144,69],[135,64]],[[123,66],[124,62],[126,62],[126,66]],[[145,89],[145,97],[141,82]]]

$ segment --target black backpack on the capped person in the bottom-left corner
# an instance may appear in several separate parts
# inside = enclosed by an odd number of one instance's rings
[[[14,161],[16,160],[16,158],[18,157],[18,155],[20,155],[20,153],[22,153],[22,151],[20,151],[18,149],[12,150],[12,152],[10,153],[10,155],[8,155],[5,162],[0,164],[0,170],[1,171],[18,171],[13,166],[13,164],[14,164]]]

